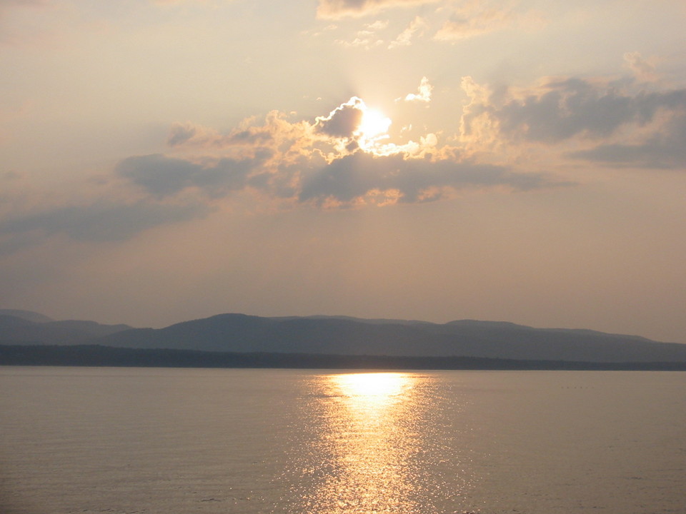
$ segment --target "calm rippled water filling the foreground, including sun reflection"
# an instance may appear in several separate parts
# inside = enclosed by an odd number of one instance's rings
[[[0,513],[686,512],[686,373],[0,368]]]

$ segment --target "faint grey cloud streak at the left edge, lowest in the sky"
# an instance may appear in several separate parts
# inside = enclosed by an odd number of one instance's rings
[[[62,206],[0,221],[1,246],[14,250],[21,241],[65,234],[76,241],[124,241],[148,228],[180,223],[209,214],[201,203],[102,201],[86,206]]]

